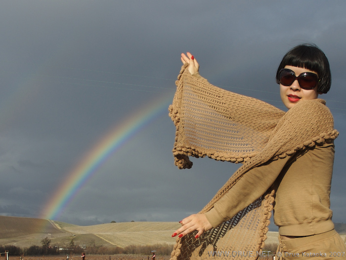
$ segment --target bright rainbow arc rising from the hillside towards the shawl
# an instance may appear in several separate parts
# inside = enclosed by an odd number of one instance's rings
[[[103,136],[69,172],[68,178],[48,199],[39,218],[56,220],[111,154],[114,154],[149,122],[165,112],[168,113],[172,95],[166,93],[165,96],[141,108]]]

